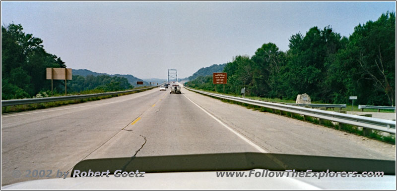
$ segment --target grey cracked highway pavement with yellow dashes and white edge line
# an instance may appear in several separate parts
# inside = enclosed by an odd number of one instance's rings
[[[64,172],[84,159],[133,155],[270,152],[396,160],[391,144],[182,93],[156,88],[1,115],[2,185],[38,179],[25,177],[27,170]],[[22,176],[12,177],[16,171]]]

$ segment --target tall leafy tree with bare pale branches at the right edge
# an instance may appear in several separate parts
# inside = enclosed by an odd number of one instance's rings
[[[382,14],[375,22],[368,21],[354,28],[347,49],[356,69],[358,91],[373,103],[387,97],[390,105],[396,100],[396,14]],[[366,91],[367,90],[367,91]],[[363,97],[363,98],[364,98]]]

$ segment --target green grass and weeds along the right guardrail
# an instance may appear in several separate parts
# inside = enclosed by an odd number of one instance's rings
[[[203,91],[203,90],[201,90],[201,91]],[[205,91],[205,92],[212,92],[212,91]],[[215,92],[212,92],[212,93],[215,93]],[[205,96],[208,96],[208,95],[205,95]],[[235,96],[235,95],[229,95],[229,96]],[[214,97],[214,96],[210,96],[210,97],[213,97],[213,98],[216,98],[216,99],[220,99],[223,102],[228,102],[228,103],[233,103],[233,104],[245,106],[245,107],[247,107],[249,109],[258,110],[258,111],[261,111],[261,112],[269,112],[269,113],[274,113],[274,114],[278,114],[278,115],[284,115],[284,116],[287,116],[287,117],[292,117],[294,119],[304,120],[304,121],[308,121],[310,123],[314,123],[314,124],[330,127],[332,129],[336,129],[336,130],[339,129],[339,125],[338,124],[333,124],[331,121],[325,120],[325,119],[320,119],[319,120],[318,118],[315,118],[315,117],[302,116],[302,115],[299,115],[299,114],[294,114],[294,113],[290,113],[290,112],[286,112],[286,111],[281,111],[281,110],[277,110],[277,109],[271,109],[271,108],[267,108],[267,107],[261,107],[261,106],[252,105],[252,104],[248,104],[248,103],[241,103],[241,102],[238,102],[238,101],[223,99],[223,98]],[[276,102],[275,100],[277,100],[277,99],[266,99],[266,98],[262,98],[262,97],[255,97],[255,98],[262,99],[262,100],[265,100],[265,101],[271,100],[271,101],[274,101],[274,102]],[[278,99],[278,100],[281,101],[281,99]],[[282,102],[284,102],[284,103],[287,102],[287,101],[288,100],[282,100]],[[289,100],[289,101],[292,101],[292,100]],[[293,102],[295,102],[295,101],[293,101]],[[350,108],[351,108],[351,105],[350,105]],[[343,109],[343,110],[345,110],[345,109]],[[359,110],[359,109],[357,108],[357,110]],[[368,109],[368,110],[370,110],[370,109]],[[377,111],[377,109],[374,109],[374,110]],[[360,109],[360,111],[361,111],[361,109]],[[364,136],[362,128],[358,128],[357,126],[341,124],[341,129],[340,130],[348,132],[348,133],[351,133],[351,134]],[[382,141],[382,142],[385,142],[385,143],[396,144],[396,135],[383,136],[383,135],[381,135],[381,132],[379,132],[379,131],[372,131],[372,133],[370,135],[367,135],[365,137],[368,137],[368,138],[371,138],[371,139],[375,139],[375,140],[379,140],[379,141]]]

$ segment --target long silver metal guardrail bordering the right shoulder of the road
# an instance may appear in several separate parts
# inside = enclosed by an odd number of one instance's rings
[[[185,87],[185,88],[190,91],[208,95],[208,96],[219,97],[219,98],[223,98],[223,99],[238,101],[238,102],[242,102],[242,103],[248,103],[248,104],[252,104],[252,105],[258,105],[258,106],[281,110],[281,111],[286,111],[286,112],[290,112],[290,113],[296,113],[296,114],[300,114],[300,115],[304,115],[304,116],[325,119],[325,120],[329,120],[329,121],[333,121],[333,122],[338,122],[341,124],[354,125],[357,127],[378,130],[378,131],[387,132],[390,134],[396,134],[396,121],[393,121],[393,120],[365,117],[365,116],[345,114],[345,113],[338,113],[338,112],[333,112],[333,111],[325,111],[325,110],[299,107],[299,106],[294,106],[294,105],[286,105],[286,104],[280,104],[280,103],[270,103],[270,102],[247,99],[247,98],[242,98],[242,97],[213,94],[213,93],[203,92],[203,91],[199,91],[199,90],[194,90],[194,89],[187,88],[187,87]]]

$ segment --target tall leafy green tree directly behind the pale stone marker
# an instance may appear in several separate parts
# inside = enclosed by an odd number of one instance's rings
[[[283,70],[286,96],[294,98],[307,93],[314,100],[330,101],[330,89],[325,84],[329,63],[342,48],[341,37],[328,26],[323,30],[312,27],[303,37],[300,33],[290,38],[287,65]]]

